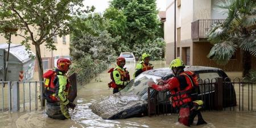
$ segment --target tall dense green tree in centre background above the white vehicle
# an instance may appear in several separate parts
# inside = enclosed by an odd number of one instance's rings
[[[152,44],[157,43],[156,40],[163,36],[157,14],[155,0],[111,1],[104,17],[109,20],[110,34],[119,38],[118,42],[113,44],[115,51],[134,52],[135,55],[141,56],[143,51],[148,51],[148,48],[154,47],[155,51],[164,49],[165,44],[160,46]],[[158,55],[159,52],[152,52],[153,58],[160,59]]]

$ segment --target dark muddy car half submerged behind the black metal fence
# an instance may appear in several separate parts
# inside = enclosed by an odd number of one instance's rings
[[[213,101],[209,101],[208,99],[214,98],[214,85],[207,83],[216,77],[222,77],[225,79],[228,77],[226,73],[221,69],[212,67],[186,66],[184,70],[195,72],[201,82],[205,79],[208,80],[208,82],[204,81],[204,85],[199,85],[200,93],[197,94],[197,97],[199,99],[204,98],[204,102],[206,104],[205,108],[210,108],[210,102],[213,102],[214,99],[212,99]],[[162,80],[168,80],[171,77],[174,77],[174,75],[169,68],[152,69],[150,71],[143,72],[134,80],[131,80],[130,83],[120,92],[94,102],[90,105],[90,108],[92,109],[92,112],[104,119],[122,119],[147,115],[147,82],[154,81],[156,83],[157,79],[161,78]],[[153,97],[155,92],[156,90],[151,89],[150,97]],[[223,92],[223,97],[225,98],[225,100],[223,100],[224,106],[236,105],[236,92],[234,91],[233,85],[225,85]],[[228,92],[232,92],[232,94]],[[162,108],[160,107],[162,105],[166,106],[168,110],[175,110],[172,108],[170,102],[167,104],[166,101],[168,97],[170,97],[170,93],[168,92],[159,93],[159,109]]]

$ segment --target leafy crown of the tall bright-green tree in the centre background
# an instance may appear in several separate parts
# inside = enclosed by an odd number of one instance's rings
[[[119,14],[119,19],[109,16],[114,12]],[[135,44],[147,45],[148,41],[152,43],[158,38],[156,33],[159,30],[160,21],[157,14],[155,0],[113,0],[104,15],[106,18],[110,17],[110,22],[113,22],[115,26],[120,26],[120,23],[115,21],[122,19],[122,29],[116,29],[115,32],[120,34],[122,45],[128,46],[131,50]],[[110,33],[114,35],[112,31]]]

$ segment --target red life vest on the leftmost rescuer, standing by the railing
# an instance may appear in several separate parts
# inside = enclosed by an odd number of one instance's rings
[[[53,70],[48,70],[46,73],[43,74],[44,77],[44,86],[46,87],[44,97],[46,100],[51,100],[51,102],[59,101],[57,97],[55,96],[55,84],[53,83],[53,80],[57,73]],[[59,74],[62,75],[62,74]],[[70,88],[69,82],[67,82],[67,85],[65,87],[64,92],[68,92]]]

